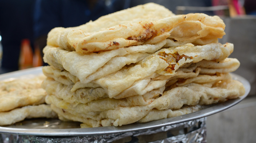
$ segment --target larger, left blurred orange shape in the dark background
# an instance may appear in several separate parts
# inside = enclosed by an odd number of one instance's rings
[[[28,69],[33,67],[33,51],[29,39],[21,40],[19,69]]]

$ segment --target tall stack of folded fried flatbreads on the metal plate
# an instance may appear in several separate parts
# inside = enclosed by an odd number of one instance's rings
[[[56,27],[44,48],[46,103],[82,127],[170,118],[244,95],[229,72],[225,24],[148,3],[78,27]]]

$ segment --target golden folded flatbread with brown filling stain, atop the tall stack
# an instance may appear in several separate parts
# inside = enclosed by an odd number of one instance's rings
[[[141,8],[142,11],[149,10]],[[119,14],[107,16],[112,19],[112,16]],[[222,38],[225,34],[225,24],[218,16],[212,17],[202,13],[195,13],[176,16],[170,14],[169,17],[163,18],[158,14],[155,15],[156,18],[153,20],[151,18],[129,23],[114,23],[116,25],[113,24],[111,27],[103,26],[104,30],[101,30],[101,25],[97,25],[101,20],[95,22],[95,27],[99,26],[95,31],[87,30],[87,28],[82,30],[82,28],[79,29],[78,27],[56,28],[48,34],[47,44],[60,46],[68,51],[75,50],[78,53],[86,54],[133,45],[154,44],[168,37],[177,41],[201,38],[216,40],[217,38]],[[143,17],[144,15],[138,15],[138,17],[140,16]],[[134,17],[131,17],[131,19],[134,19]],[[90,24],[93,23],[91,22]],[[88,27],[91,27],[90,24],[88,24]],[[83,27],[87,27],[87,24],[83,25]]]

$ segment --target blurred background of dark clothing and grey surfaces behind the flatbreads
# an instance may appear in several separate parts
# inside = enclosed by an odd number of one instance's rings
[[[234,43],[230,57],[241,63],[234,73],[250,82],[251,91],[240,108],[207,119],[208,141],[255,141],[256,0],[0,0],[0,74],[45,65],[42,49],[54,27],[78,26],[148,2],[175,14],[199,12],[224,20],[226,35],[219,42]]]

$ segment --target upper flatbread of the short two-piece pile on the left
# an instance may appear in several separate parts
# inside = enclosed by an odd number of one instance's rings
[[[44,103],[46,92],[41,88],[44,75],[1,81],[0,112],[26,105]]]

